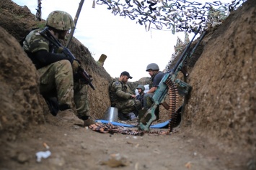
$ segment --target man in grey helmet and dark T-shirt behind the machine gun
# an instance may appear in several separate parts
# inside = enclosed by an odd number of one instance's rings
[[[164,72],[159,71],[158,65],[156,63],[151,63],[146,67],[146,72],[149,72],[149,75],[151,76],[152,80],[152,87],[149,89],[149,91],[144,95],[144,109],[148,110],[151,105],[154,103],[153,95],[156,89],[159,86],[159,83],[162,80],[162,77],[164,77]],[[159,107],[156,108],[155,111],[156,114],[156,120],[159,119]]]

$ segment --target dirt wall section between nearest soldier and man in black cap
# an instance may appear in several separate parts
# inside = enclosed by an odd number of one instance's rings
[[[94,118],[100,119],[110,107],[108,84],[112,79],[104,67],[97,65],[89,49],[84,47],[79,40],[73,38],[69,49],[82,62],[84,70],[92,75],[92,85],[94,85],[95,90],[92,90],[89,85],[87,86],[89,112]]]

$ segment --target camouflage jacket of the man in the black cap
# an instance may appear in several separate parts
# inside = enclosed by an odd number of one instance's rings
[[[120,100],[128,100],[131,98],[131,93],[128,93],[125,83],[120,82],[118,78],[115,78],[109,85],[110,101],[111,103],[117,103]]]

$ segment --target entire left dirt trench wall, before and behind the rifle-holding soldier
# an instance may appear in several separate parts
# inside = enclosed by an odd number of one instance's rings
[[[3,108],[0,115],[0,131],[15,129],[12,131],[15,134],[22,130],[21,127],[25,128],[31,123],[43,123],[43,114],[48,112],[48,107],[38,92],[35,66],[18,43],[30,32],[30,29],[43,27],[45,21],[36,22],[35,15],[31,14],[27,6],[18,6],[11,0],[0,1],[0,21],[2,27],[0,47],[3,49],[0,52],[3,58],[0,69],[0,94],[4,96],[1,98],[4,103],[0,103]],[[90,113],[94,118],[102,118],[107,107],[110,106],[107,85],[111,77],[104,67],[97,65],[89,49],[75,37],[69,49],[77,59],[81,60],[84,69],[93,77],[95,90],[88,86]]]

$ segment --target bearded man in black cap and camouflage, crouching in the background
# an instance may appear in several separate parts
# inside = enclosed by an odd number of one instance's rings
[[[125,83],[129,78],[133,78],[129,72],[122,72],[109,86],[111,106],[118,108],[118,117],[122,121],[127,121],[127,118],[133,121],[136,118],[134,112],[141,109],[141,102],[135,99],[136,95],[128,93]]]

